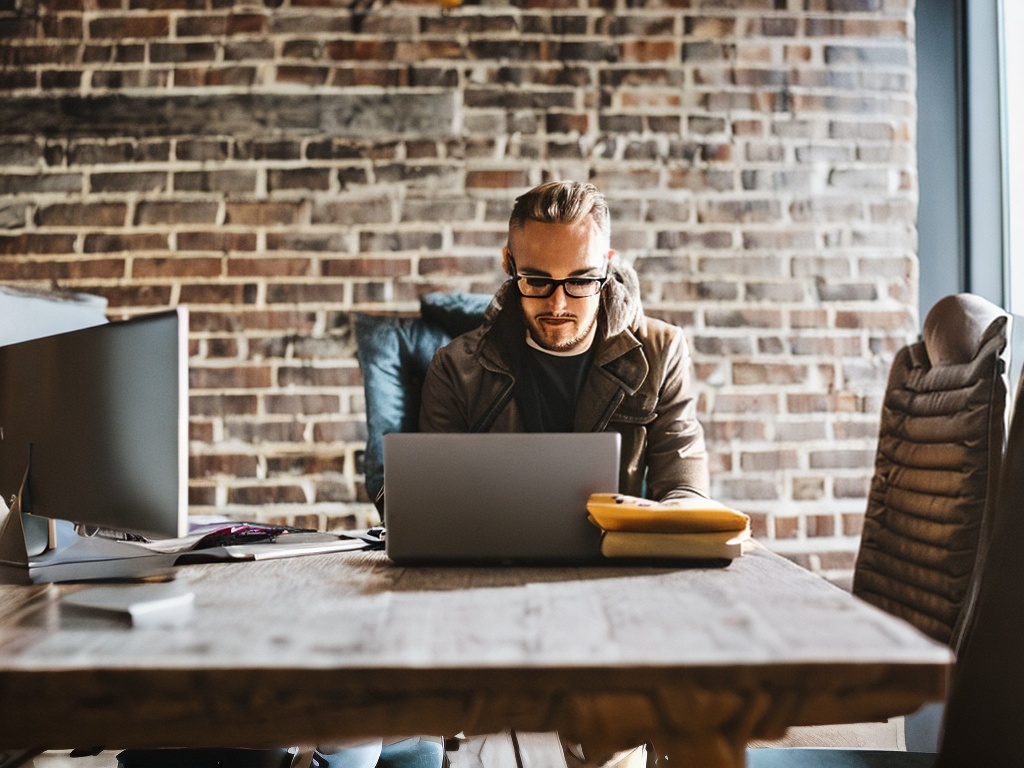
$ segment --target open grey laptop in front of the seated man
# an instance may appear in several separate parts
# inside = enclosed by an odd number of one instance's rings
[[[591,494],[618,490],[620,435],[384,435],[384,537],[401,564],[597,562]]]

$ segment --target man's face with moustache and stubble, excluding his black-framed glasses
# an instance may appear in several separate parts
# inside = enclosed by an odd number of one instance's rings
[[[505,271],[510,257],[520,276],[603,278],[612,252],[589,221],[546,224],[527,221],[509,234]],[[559,352],[585,351],[597,331],[601,294],[573,298],[563,286],[545,299],[520,296],[526,330],[539,346]]]

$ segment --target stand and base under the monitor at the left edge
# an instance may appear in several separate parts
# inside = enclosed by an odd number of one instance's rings
[[[40,517],[24,511],[25,484],[23,481],[22,489],[0,523],[0,584],[161,579],[171,575],[170,568],[174,565],[176,554],[152,552],[131,542],[83,537],[68,520]]]

